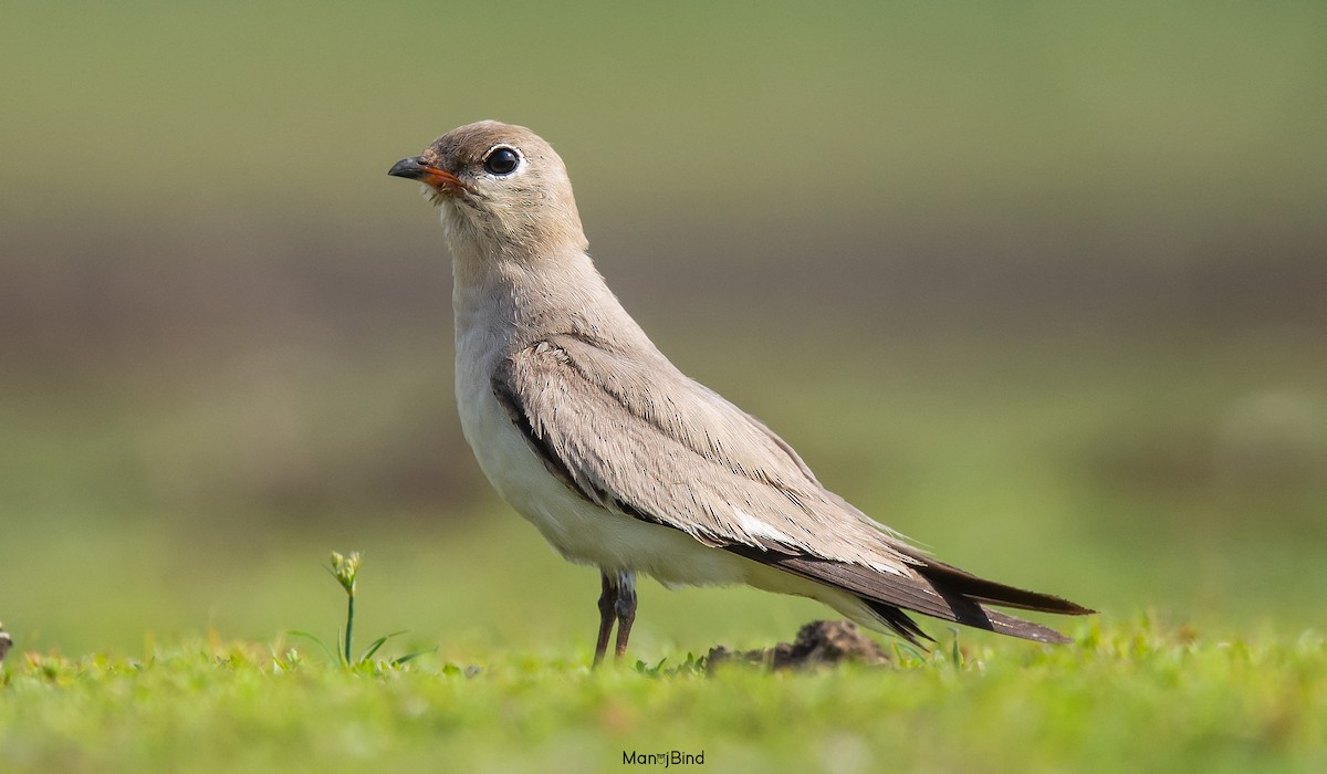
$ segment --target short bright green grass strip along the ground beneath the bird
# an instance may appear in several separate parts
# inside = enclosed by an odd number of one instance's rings
[[[1322,771],[1327,641],[1148,619],[1062,648],[949,643],[885,668],[768,674],[512,652],[346,669],[288,644],[29,655],[0,677],[5,771]],[[642,766],[649,769],[648,766]]]

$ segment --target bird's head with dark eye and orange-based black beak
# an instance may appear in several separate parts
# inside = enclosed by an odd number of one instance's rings
[[[425,195],[442,208],[455,255],[549,255],[587,247],[563,159],[524,126],[459,126],[387,174],[423,183]]]

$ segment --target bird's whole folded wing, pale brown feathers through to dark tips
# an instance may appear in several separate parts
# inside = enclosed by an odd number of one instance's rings
[[[893,538],[825,490],[764,425],[657,352],[551,336],[512,353],[492,386],[548,470],[587,501],[841,588],[913,643],[929,637],[905,609],[1042,643],[1068,639],[986,605],[1092,612],[978,578]]]

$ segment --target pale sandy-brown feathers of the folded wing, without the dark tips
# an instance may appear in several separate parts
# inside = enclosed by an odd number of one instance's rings
[[[898,571],[914,560],[844,508],[764,425],[687,378],[580,336],[518,350],[494,392],[545,465],[587,499],[710,546]]]

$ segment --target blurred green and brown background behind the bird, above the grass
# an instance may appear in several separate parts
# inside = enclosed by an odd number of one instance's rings
[[[29,3],[0,11],[0,620],[585,652],[488,490],[435,214],[549,139],[674,361],[943,558],[1108,616],[1322,627],[1327,5]],[[827,611],[642,588],[634,653]],[[974,635],[981,636],[981,635]]]

